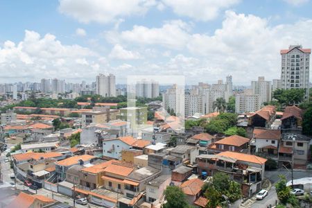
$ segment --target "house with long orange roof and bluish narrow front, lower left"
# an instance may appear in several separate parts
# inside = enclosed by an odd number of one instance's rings
[[[83,166],[85,164],[89,164],[96,157],[92,155],[76,155],[73,157],[69,157],[67,159],[60,160],[55,162],[55,172],[57,174],[57,180],[63,181],[66,178],[66,171],[73,165]]]

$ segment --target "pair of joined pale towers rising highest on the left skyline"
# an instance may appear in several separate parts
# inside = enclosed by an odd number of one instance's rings
[[[101,73],[96,76],[96,94],[103,97],[116,96],[116,77],[111,73],[108,76]]]

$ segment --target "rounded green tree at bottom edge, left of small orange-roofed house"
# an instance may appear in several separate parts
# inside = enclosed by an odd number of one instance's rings
[[[175,186],[169,186],[164,191],[166,196],[166,204],[162,205],[163,208],[187,208],[191,207],[182,189]]]

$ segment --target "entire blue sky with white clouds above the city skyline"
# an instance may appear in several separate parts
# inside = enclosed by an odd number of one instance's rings
[[[0,83],[185,76],[279,78],[280,49],[312,47],[312,0],[3,0]],[[312,80],[310,78],[310,80]]]

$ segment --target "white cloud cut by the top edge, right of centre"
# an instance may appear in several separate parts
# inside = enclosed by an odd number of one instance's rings
[[[209,21],[218,17],[220,10],[230,8],[241,0],[162,0],[177,15],[191,17],[198,21]]]

